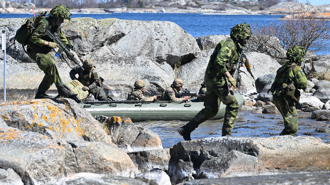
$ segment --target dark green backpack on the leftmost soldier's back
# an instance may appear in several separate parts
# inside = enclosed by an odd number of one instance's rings
[[[15,35],[16,41],[22,44],[22,46],[26,46],[39,20],[46,20],[45,17],[46,14],[47,11],[40,13],[35,17],[26,18],[24,23],[21,25],[21,27],[16,31],[16,35]],[[46,28],[48,29],[49,27],[48,21],[45,22],[46,22]]]

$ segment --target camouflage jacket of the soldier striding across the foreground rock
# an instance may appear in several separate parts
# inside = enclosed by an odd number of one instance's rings
[[[205,71],[204,82],[208,85],[211,83],[225,83],[224,72],[233,73],[234,64],[240,59],[242,46],[235,43],[233,39],[227,38],[220,41],[209,60]]]

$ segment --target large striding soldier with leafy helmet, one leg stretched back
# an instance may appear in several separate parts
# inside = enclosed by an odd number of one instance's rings
[[[204,106],[201,111],[195,115],[186,125],[178,128],[178,132],[184,140],[191,140],[190,133],[195,130],[199,124],[214,117],[220,107],[220,101],[226,105],[222,136],[231,136],[230,132],[236,120],[239,110],[239,103],[236,97],[230,94],[230,88],[234,90],[236,81],[231,76],[233,66],[239,61],[243,46],[252,36],[250,25],[245,22],[236,24],[231,28],[230,38],[220,41],[215,47],[205,71],[204,83],[207,91],[204,99]]]

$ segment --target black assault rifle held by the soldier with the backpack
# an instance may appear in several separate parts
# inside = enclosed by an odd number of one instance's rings
[[[60,54],[64,51],[65,54],[78,66],[80,66],[80,68],[82,68],[82,70],[85,70],[81,65],[80,65],[80,61],[70,52],[70,48],[67,47],[62,41],[61,39],[59,39],[59,37],[57,36],[57,34],[55,33],[55,36],[49,31],[46,30],[44,33],[44,36],[47,35],[50,39],[52,39],[58,46],[59,49],[56,52],[55,56],[59,57]]]

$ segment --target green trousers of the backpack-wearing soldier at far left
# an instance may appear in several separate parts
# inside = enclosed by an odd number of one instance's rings
[[[53,83],[55,83],[57,88],[63,85],[62,79],[56,68],[55,60],[50,53],[43,54],[37,53],[32,50],[27,54],[37,63],[38,67],[45,73],[45,76],[38,87],[38,91],[46,92]]]

